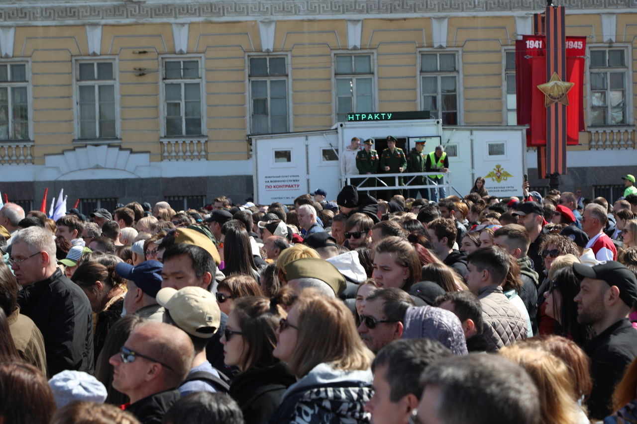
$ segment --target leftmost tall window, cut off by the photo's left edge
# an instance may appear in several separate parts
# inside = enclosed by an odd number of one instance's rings
[[[29,139],[26,64],[0,64],[0,139]]]

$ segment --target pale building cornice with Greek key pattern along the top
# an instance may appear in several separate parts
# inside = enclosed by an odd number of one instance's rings
[[[559,0],[567,13],[635,13],[637,0]],[[543,11],[545,0],[4,1],[0,25],[122,25],[241,20],[487,17]]]

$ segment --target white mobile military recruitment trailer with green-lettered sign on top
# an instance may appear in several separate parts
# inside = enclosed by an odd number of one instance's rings
[[[374,139],[372,148],[379,155],[387,147],[387,136],[394,136],[405,153],[418,140],[426,141],[425,154],[437,145],[445,146],[450,171],[445,178],[450,187],[447,195],[468,194],[478,176],[485,178],[490,195],[507,197],[522,191],[526,127],[443,127],[440,120],[422,116],[422,112],[351,113],[347,122],[324,131],[248,136],[255,202],[291,204],[317,188],[326,190],[328,201],[335,200],[351,178],[341,173],[339,153],[354,137],[361,142]],[[381,193],[378,197],[383,197]]]

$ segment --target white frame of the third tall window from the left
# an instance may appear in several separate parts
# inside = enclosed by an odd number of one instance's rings
[[[206,115],[206,68],[205,63],[206,59],[203,54],[201,55],[161,55],[158,57],[159,60],[159,110],[161,111],[161,134],[162,138],[201,138],[202,136],[208,137],[208,117]],[[197,60],[199,62],[199,80],[201,81],[199,91],[200,91],[200,99],[201,99],[201,132],[199,134],[182,134],[182,135],[166,135],[166,83],[170,83],[169,81],[178,81],[179,83],[185,83],[187,81],[194,80],[185,80],[185,79],[175,79],[175,80],[166,80],[166,68],[164,67],[164,63],[166,61],[175,61],[175,60]],[[182,88],[183,93],[183,88]],[[182,97],[182,102],[185,99]],[[182,105],[183,106],[183,105]],[[182,129],[185,132],[185,113],[182,115]]]

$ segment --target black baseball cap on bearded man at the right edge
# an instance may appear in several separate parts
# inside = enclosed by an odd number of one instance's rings
[[[609,286],[619,288],[619,298],[628,306],[637,301],[637,277],[634,272],[616,260],[607,260],[599,265],[589,267],[584,264],[573,264],[573,272],[579,278],[602,279]]]

